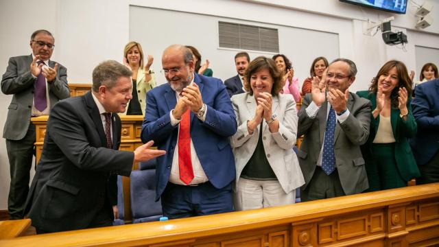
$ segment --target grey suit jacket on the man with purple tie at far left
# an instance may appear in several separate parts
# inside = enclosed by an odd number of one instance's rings
[[[1,79],[1,91],[7,95],[12,94],[12,101],[8,107],[8,117],[3,138],[9,140],[21,140],[29,128],[32,101],[34,100],[34,82],[36,79],[30,73],[32,55],[17,56],[9,59],[8,69]],[[49,60],[49,67],[55,67],[54,61]],[[56,79],[49,85],[49,101],[53,107],[60,99],[70,96],[67,84],[67,69],[58,63]]]

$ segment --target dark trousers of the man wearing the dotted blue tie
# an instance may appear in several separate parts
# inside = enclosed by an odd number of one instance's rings
[[[337,196],[346,196],[337,169],[327,175],[323,172],[322,167],[317,166],[309,185],[306,189],[300,189],[300,201],[302,202]]]

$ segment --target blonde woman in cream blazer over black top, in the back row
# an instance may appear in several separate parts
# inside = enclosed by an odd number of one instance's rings
[[[145,115],[146,93],[156,86],[151,65],[154,58],[147,56],[143,67],[143,51],[139,43],[131,41],[123,49],[123,63],[132,71],[132,99],[124,115]]]

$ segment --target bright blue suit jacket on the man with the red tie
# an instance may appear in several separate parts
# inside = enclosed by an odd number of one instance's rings
[[[228,141],[237,130],[235,113],[221,80],[195,74],[194,82],[200,88],[207,113],[206,121],[202,122],[191,112],[191,139],[207,178],[214,187],[222,188],[235,179],[235,158]],[[169,84],[147,93],[141,139],[143,143],[154,140],[158,149],[166,150],[165,155],[157,158],[156,200],[165,190],[171,174],[178,125],[171,125],[169,113],[176,104],[176,93]]]

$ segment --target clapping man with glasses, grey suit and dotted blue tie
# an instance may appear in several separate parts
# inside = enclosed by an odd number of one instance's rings
[[[361,193],[368,179],[360,145],[369,135],[371,104],[349,92],[357,67],[338,58],[313,78],[302,102],[298,135],[304,135],[298,159],[305,178],[302,201]]]

